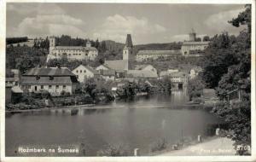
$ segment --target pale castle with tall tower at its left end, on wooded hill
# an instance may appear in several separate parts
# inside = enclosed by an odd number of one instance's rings
[[[63,56],[68,60],[89,60],[94,61],[98,55],[98,50],[91,47],[90,41],[86,46],[56,46],[55,37],[49,37],[49,55],[47,61],[51,59],[61,59]]]

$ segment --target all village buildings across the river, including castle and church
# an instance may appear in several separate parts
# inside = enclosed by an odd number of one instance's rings
[[[38,40],[40,41],[40,40]],[[180,69],[166,69],[159,71],[153,65],[143,64],[148,59],[163,59],[172,55],[183,55],[185,57],[199,57],[201,52],[207,48],[208,41],[196,41],[194,30],[189,33],[189,41],[184,41],[181,49],[175,50],[134,50],[131,34],[127,34],[122,60],[105,60],[98,67],[79,65],[74,69],[67,67],[34,67],[20,76],[17,69],[12,69],[13,75],[6,78],[7,94],[11,101],[11,94],[19,94],[24,91],[38,93],[46,90],[52,96],[60,96],[63,93],[73,95],[79,89],[80,84],[88,80],[103,79],[114,84],[111,90],[122,89],[125,83],[143,82],[153,88],[157,80],[167,78],[172,84],[172,90],[183,90],[186,88],[189,79],[195,78],[201,67],[192,67],[189,71]],[[86,46],[57,46],[55,37],[49,37],[49,55],[47,61],[66,57],[70,61],[95,61],[98,50],[92,47],[90,41]],[[136,64],[134,63],[136,62]],[[8,95],[7,95],[8,96]]]

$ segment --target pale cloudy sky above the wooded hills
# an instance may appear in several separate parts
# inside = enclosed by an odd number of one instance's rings
[[[99,41],[134,44],[188,40],[221,32],[237,35],[246,26],[228,20],[244,10],[243,4],[150,3],[7,3],[7,37],[45,38],[70,35]]]

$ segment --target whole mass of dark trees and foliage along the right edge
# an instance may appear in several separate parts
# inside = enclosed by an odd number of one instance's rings
[[[224,32],[212,38],[202,61],[203,79],[221,100],[212,111],[229,124],[225,135],[236,147],[245,148],[251,146],[251,5],[229,22],[247,25],[247,29],[237,37]],[[235,103],[228,100],[232,90],[240,92]],[[236,150],[238,154],[248,153],[247,149]]]

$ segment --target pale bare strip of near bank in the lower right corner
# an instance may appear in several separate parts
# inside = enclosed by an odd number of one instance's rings
[[[226,137],[213,136],[205,142],[196,143],[180,150],[164,150],[155,153],[156,156],[212,156],[212,155],[235,155],[233,141]]]

